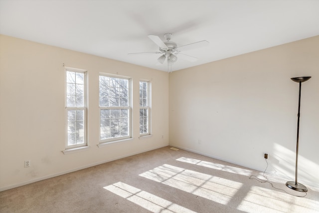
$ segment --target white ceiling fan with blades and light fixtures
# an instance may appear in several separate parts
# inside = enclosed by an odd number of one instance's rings
[[[186,55],[184,53],[181,53],[181,51],[186,51],[190,49],[196,49],[200,47],[207,46],[209,44],[208,41],[202,40],[197,41],[195,43],[190,43],[182,46],[177,46],[177,44],[173,41],[171,41],[171,33],[165,33],[164,38],[166,41],[162,41],[159,36],[157,35],[148,35],[148,37],[159,46],[158,52],[136,52],[136,53],[129,53],[129,55],[138,55],[138,54],[161,54],[161,56],[158,58],[157,65],[163,64],[165,61],[167,61],[168,64],[168,72],[171,71],[171,64],[175,63],[177,61],[177,55],[178,57],[188,60],[188,61],[196,61],[198,58]]]

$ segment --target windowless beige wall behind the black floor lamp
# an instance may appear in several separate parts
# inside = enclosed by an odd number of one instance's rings
[[[213,54],[213,53],[212,53]],[[170,145],[319,186],[319,36],[172,72]]]

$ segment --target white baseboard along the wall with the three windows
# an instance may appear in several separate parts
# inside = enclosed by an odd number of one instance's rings
[[[67,171],[63,171],[63,172],[59,172],[59,173],[55,173],[55,174],[51,174],[51,175],[47,175],[47,176],[43,176],[43,177],[40,177],[40,178],[35,178],[35,179],[24,181],[24,182],[20,182],[20,183],[13,184],[13,185],[10,185],[10,186],[2,187],[2,188],[0,188],[0,192],[5,191],[5,190],[10,190],[10,189],[13,189],[13,188],[16,188],[16,187],[21,187],[21,186],[24,186],[24,185],[32,184],[32,183],[35,183],[35,182],[38,182],[38,181],[43,181],[43,180],[46,180],[46,179],[49,179],[49,178],[54,178],[54,177],[57,177],[57,176],[60,176],[60,175],[65,175],[65,174],[68,174],[68,173],[71,173],[71,172],[76,172],[76,171],[79,171],[79,170],[87,169],[87,168],[94,167],[94,166],[97,166],[97,165],[100,165],[100,164],[105,164],[105,163],[108,163],[108,162],[111,162],[111,161],[116,161],[116,160],[119,160],[119,159],[122,159],[122,158],[127,158],[127,157],[130,157],[130,156],[134,156],[134,155],[138,155],[138,154],[141,154],[141,153],[149,152],[149,151],[152,151],[152,150],[160,149],[160,148],[163,148],[163,147],[166,147],[166,146],[168,146],[168,145],[147,149],[147,150],[143,150],[143,151],[140,151],[140,152],[131,153],[131,154],[128,154],[128,155],[123,155],[123,156],[119,156],[119,157],[116,157],[116,158],[111,158],[111,159],[108,159],[108,160],[105,160],[105,161],[100,161],[100,162],[97,162],[97,163],[93,163],[93,164],[89,164],[89,165],[86,165],[86,166],[78,167],[78,168],[75,168],[75,169],[71,169],[71,170],[67,170]]]

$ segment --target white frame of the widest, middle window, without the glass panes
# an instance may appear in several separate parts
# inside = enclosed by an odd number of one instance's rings
[[[111,143],[123,142],[132,139],[132,78],[128,76],[115,75],[110,73],[100,73],[100,76],[106,76],[111,78],[120,78],[128,80],[128,106],[100,106],[100,86],[99,86],[99,145],[98,147],[103,147],[104,145],[109,145]],[[100,84],[100,81],[99,81]],[[128,110],[128,136],[102,139],[101,140],[101,110],[104,109],[127,109]]]

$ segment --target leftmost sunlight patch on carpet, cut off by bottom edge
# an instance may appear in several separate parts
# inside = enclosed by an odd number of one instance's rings
[[[170,201],[123,182],[118,182],[103,188],[154,213],[195,213],[187,208],[173,204]]]

